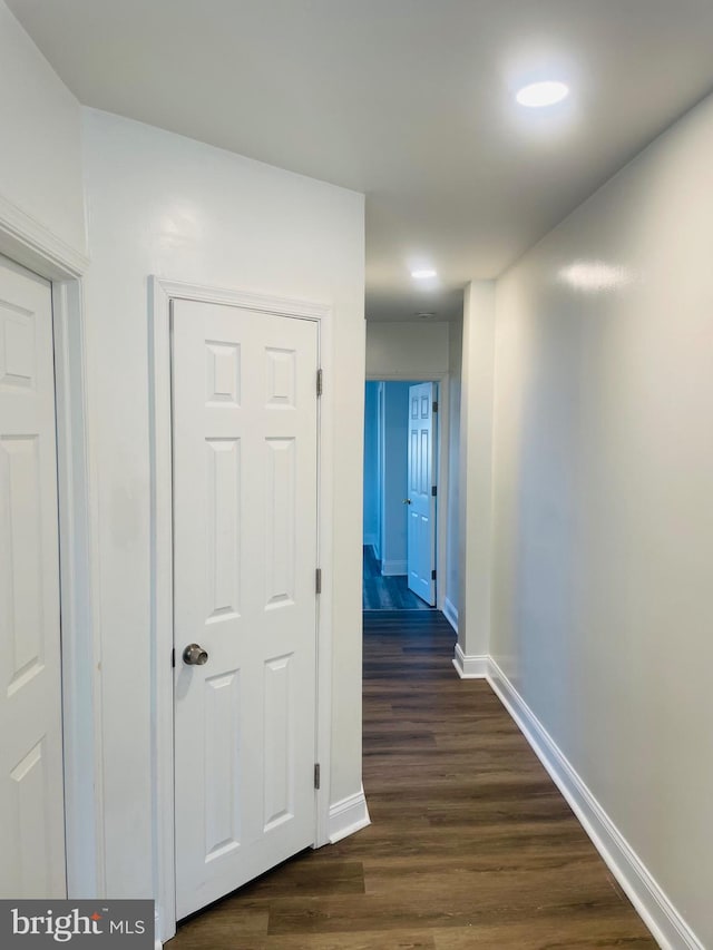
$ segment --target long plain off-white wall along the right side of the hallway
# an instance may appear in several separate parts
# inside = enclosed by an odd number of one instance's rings
[[[713,947],[711,155],[713,98],[499,282],[490,647],[701,947]]]

